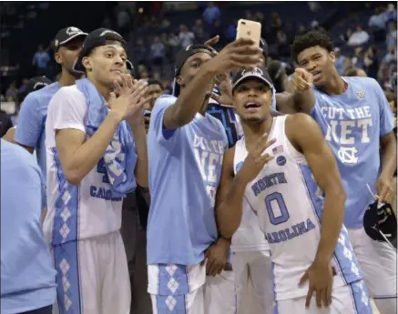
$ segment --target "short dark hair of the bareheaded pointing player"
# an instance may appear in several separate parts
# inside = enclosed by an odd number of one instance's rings
[[[320,46],[328,52],[334,49],[332,39],[325,32],[311,30],[303,35],[296,35],[293,44],[291,44],[291,57],[297,62],[297,56],[305,49],[313,46]]]

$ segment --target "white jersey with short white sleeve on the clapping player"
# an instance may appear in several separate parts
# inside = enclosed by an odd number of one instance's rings
[[[56,150],[56,130],[77,129],[86,133],[86,114],[86,97],[77,86],[62,87],[48,106],[48,209],[43,228],[53,245],[106,235],[121,227],[122,198],[112,193],[104,159],[74,186],[67,182]]]

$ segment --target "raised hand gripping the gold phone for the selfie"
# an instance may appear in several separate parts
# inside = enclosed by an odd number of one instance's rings
[[[207,66],[217,74],[229,73],[234,69],[255,68],[262,63],[262,50],[250,38],[240,38],[225,46]]]

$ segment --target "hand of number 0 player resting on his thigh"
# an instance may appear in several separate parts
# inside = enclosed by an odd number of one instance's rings
[[[310,307],[313,293],[316,293],[316,305],[321,309],[328,307],[332,303],[333,270],[331,264],[314,261],[310,268],[300,279],[299,286],[309,281],[307,298],[305,299],[305,308]]]

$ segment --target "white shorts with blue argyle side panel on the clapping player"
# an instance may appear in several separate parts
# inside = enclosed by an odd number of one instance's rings
[[[60,314],[129,314],[128,262],[119,231],[53,250]]]

